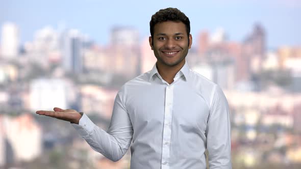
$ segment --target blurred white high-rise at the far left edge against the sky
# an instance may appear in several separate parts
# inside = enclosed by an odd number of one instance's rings
[[[1,31],[1,56],[14,58],[19,54],[19,30],[14,23],[4,23]]]

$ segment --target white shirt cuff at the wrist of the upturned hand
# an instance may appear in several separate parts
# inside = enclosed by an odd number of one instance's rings
[[[88,118],[86,114],[82,116],[79,124],[71,124],[82,136],[89,135],[95,126],[95,124]]]

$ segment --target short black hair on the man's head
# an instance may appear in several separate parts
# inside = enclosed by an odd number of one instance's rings
[[[154,37],[154,27],[157,23],[165,21],[183,22],[186,26],[187,36],[190,34],[189,18],[177,8],[160,9],[156,12],[149,21],[150,36]]]

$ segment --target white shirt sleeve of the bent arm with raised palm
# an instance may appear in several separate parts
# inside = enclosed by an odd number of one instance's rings
[[[115,98],[107,132],[96,126],[85,114],[80,119],[79,125],[72,124],[93,150],[112,161],[121,159],[132,142],[133,127],[124,103],[125,99],[123,87]]]

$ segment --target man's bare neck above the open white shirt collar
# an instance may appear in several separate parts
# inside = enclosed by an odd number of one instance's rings
[[[162,63],[157,62],[157,70],[160,76],[169,84],[173,82],[174,76],[182,69],[182,67],[185,65],[185,60],[184,62],[179,63],[178,65],[175,66],[167,66]]]

